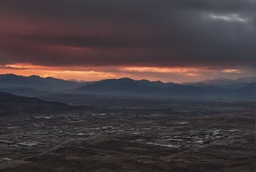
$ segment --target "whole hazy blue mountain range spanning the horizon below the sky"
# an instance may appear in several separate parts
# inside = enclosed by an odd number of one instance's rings
[[[198,83],[163,83],[130,78],[75,82],[40,76],[0,75],[0,91],[21,96],[42,96],[53,93],[72,93],[110,96],[176,97],[255,97],[256,77],[230,80],[218,78]]]

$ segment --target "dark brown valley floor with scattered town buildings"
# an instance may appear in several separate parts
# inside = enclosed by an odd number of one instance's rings
[[[0,171],[255,171],[254,113],[253,103],[142,102],[2,115]]]

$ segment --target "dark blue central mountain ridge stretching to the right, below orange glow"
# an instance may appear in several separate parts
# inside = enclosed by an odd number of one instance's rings
[[[250,84],[242,85],[242,88],[218,88],[210,84],[174,84],[160,81],[131,80],[129,78],[101,80],[94,84],[88,84],[76,88],[73,92],[96,95],[118,96],[155,96],[155,97],[225,97],[239,96],[251,97]]]

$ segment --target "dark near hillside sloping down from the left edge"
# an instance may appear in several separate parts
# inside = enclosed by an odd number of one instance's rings
[[[58,102],[49,102],[38,98],[14,96],[10,93],[0,92],[0,114],[22,113],[54,113],[66,111],[72,107]]]

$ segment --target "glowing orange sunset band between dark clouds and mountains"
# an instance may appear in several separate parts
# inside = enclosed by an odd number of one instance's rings
[[[239,69],[224,69],[222,71],[209,68],[160,68],[160,67],[79,67],[79,66],[43,66],[30,64],[11,64],[0,67],[0,74],[13,73],[19,76],[37,75],[41,77],[55,77],[63,80],[103,80],[110,78],[131,77],[136,80],[160,80],[164,82],[197,81],[206,79],[206,73],[218,75],[220,73],[242,74]],[[179,76],[179,77],[177,77]]]

